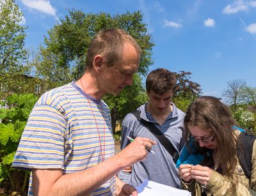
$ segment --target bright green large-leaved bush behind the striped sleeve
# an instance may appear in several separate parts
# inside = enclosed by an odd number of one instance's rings
[[[33,94],[12,94],[6,98],[11,109],[0,109],[0,186],[4,190],[25,193],[29,172],[13,169],[13,157],[38,98]],[[9,193],[10,194],[10,193]]]

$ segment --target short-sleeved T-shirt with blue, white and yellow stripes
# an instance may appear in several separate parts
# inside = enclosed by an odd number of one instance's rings
[[[63,174],[69,174],[102,162],[101,151],[104,159],[113,156],[115,144],[108,105],[88,94],[87,97],[74,82],[44,93],[29,116],[12,167],[62,169]],[[33,195],[31,185],[30,176],[28,195]],[[113,192],[115,177],[92,195]]]

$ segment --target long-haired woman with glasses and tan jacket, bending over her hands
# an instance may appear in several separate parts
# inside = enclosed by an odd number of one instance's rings
[[[249,188],[256,190],[256,143],[248,179],[237,158],[237,149],[246,144],[239,142],[242,132],[234,125],[232,113],[218,98],[202,96],[189,105],[184,127],[190,149],[184,148],[178,163],[182,186],[192,195],[244,196],[251,195]]]

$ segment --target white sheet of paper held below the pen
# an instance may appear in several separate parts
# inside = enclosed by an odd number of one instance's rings
[[[140,196],[168,196],[168,195],[179,195],[179,196],[189,196],[190,192],[187,190],[180,190],[178,188],[173,188],[172,186],[162,185],[154,181],[145,179],[141,185],[137,188],[138,195]]]

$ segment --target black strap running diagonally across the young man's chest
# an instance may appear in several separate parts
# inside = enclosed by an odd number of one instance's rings
[[[139,110],[135,110],[134,112],[132,112],[132,114],[159,140],[159,142],[163,145],[166,151],[168,151],[168,153],[170,153],[170,155],[172,156],[173,162],[176,163],[179,158],[179,153],[173,147],[172,142],[170,142],[170,140],[168,140],[153,123],[142,119],[140,117]]]

